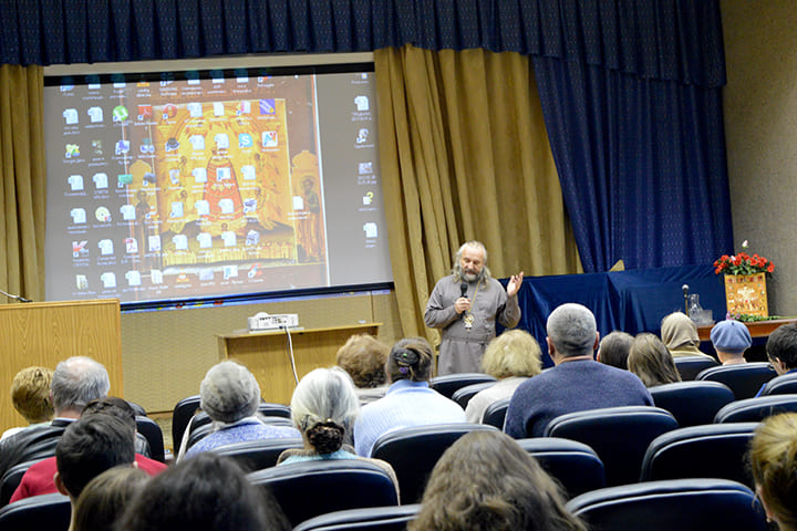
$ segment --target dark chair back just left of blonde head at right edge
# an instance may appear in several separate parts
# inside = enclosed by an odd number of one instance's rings
[[[756,426],[707,424],[662,434],[648,447],[640,481],[722,478],[749,483],[745,454]]]

